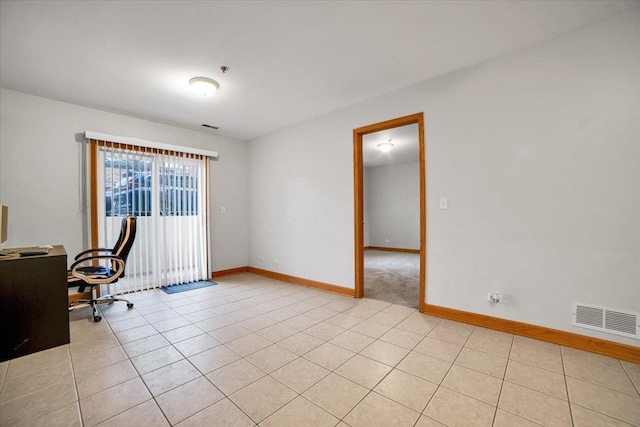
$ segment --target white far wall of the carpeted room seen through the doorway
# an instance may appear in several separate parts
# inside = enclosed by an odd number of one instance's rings
[[[364,198],[365,246],[420,249],[419,162],[364,168]]]

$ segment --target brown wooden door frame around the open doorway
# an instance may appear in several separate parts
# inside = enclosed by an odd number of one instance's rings
[[[427,272],[427,181],[425,166],[424,113],[398,117],[353,130],[353,186],[354,186],[354,229],[355,229],[355,297],[364,297],[364,166],[362,158],[362,137],[364,135],[400,126],[418,124],[418,150],[420,158],[420,292],[419,310],[422,312],[426,292]]]

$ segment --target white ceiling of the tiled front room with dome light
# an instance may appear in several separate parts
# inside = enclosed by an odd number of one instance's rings
[[[0,85],[251,139],[638,6],[2,0]],[[195,76],[216,79],[219,92],[198,98]]]

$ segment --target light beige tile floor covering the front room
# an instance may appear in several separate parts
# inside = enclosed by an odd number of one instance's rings
[[[640,365],[250,274],[70,315],[0,425],[630,426]]]

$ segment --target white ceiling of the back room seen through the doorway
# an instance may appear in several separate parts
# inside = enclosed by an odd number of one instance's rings
[[[393,147],[386,153],[378,148],[391,140]],[[362,164],[365,168],[387,166],[419,160],[418,125],[406,125],[362,136]]]

